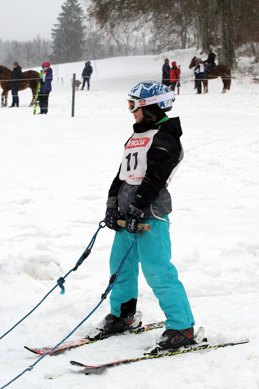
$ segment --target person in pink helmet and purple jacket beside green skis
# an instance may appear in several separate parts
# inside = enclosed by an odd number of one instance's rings
[[[49,107],[49,95],[52,90],[52,69],[49,62],[43,62],[42,66],[42,78],[40,80],[40,90],[38,94],[40,112],[38,115],[47,114]]]

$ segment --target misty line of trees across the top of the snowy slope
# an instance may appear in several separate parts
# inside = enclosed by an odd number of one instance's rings
[[[218,63],[236,68],[236,53],[259,61],[258,0],[66,0],[52,39],[0,39],[0,63],[76,62],[121,55],[212,47]]]

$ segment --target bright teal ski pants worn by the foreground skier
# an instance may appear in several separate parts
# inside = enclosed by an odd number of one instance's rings
[[[164,216],[168,219],[168,216]],[[121,303],[138,298],[138,263],[143,275],[159,301],[165,313],[166,328],[181,330],[194,325],[190,304],[183,284],[178,280],[178,273],[171,259],[171,241],[169,223],[159,219],[142,218],[141,223],[152,226],[138,237],[131,249],[121,273],[114,284],[111,295],[111,313],[121,315]],[[110,273],[115,273],[127,249],[135,238],[134,234],[124,228],[115,233],[110,255]]]

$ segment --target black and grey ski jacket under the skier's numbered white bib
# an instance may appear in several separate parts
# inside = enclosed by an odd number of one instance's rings
[[[132,200],[144,212],[144,217],[154,218],[151,204],[156,216],[172,212],[171,195],[166,188],[166,181],[179,163],[180,153],[183,153],[180,143],[182,129],[178,117],[157,124],[163,117],[166,117],[164,113],[152,122],[143,121],[133,125],[135,133],[150,129],[159,129],[159,131],[155,134],[147,152],[147,170],[140,185],[130,185],[120,180],[121,166],[111,184],[108,202],[116,203],[122,215],[126,215]]]

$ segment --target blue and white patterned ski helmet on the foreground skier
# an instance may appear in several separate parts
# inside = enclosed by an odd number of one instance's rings
[[[142,108],[144,117],[170,111],[175,100],[171,88],[157,81],[142,81],[131,88],[128,94],[131,98],[138,99],[138,107]]]

